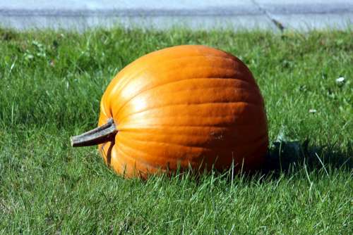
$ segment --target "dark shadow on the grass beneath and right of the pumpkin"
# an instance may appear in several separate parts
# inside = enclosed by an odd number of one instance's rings
[[[353,148],[349,145],[345,151],[337,150],[337,147],[311,146],[309,141],[275,141],[268,148],[265,162],[260,170],[252,172],[239,172],[227,170],[216,172],[221,179],[232,182],[241,179],[245,182],[263,183],[276,180],[281,176],[294,176],[298,172],[324,172],[330,174],[335,170],[352,172]]]

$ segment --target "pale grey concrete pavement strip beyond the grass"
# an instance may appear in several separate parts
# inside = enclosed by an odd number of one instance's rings
[[[353,23],[353,0],[2,0],[1,27],[18,30],[90,27],[166,29],[345,29]]]

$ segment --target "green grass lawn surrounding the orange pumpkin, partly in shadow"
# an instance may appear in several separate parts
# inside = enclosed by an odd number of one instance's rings
[[[349,29],[0,30],[0,233],[351,234],[352,38]],[[95,147],[69,146],[96,125],[116,72],[178,44],[249,65],[272,143],[263,172],[127,180]]]

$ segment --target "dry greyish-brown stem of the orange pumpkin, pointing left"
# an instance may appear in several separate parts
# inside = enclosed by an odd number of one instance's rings
[[[107,141],[114,140],[114,136],[118,132],[116,129],[113,118],[109,118],[106,124],[85,132],[78,136],[71,136],[71,146],[92,146],[103,144]]]

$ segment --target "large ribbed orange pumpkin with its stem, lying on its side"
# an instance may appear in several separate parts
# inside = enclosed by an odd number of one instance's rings
[[[208,46],[174,46],[127,65],[102,96],[98,126],[71,144],[99,144],[104,162],[126,177],[253,170],[268,147],[264,101],[249,68]]]

